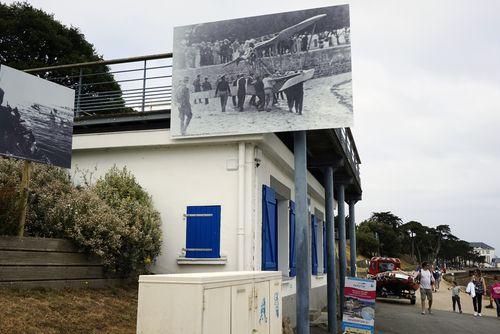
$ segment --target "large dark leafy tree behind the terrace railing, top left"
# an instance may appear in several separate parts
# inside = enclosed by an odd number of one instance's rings
[[[40,9],[27,2],[11,5],[0,3],[0,63],[25,70],[30,68],[76,64],[102,60],[85,36],[75,27],[67,27]],[[92,99],[100,92],[121,93],[119,84],[109,73],[106,65],[82,67],[84,74],[82,94]],[[42,78],[64,86],[75,88],[79,81],[78,68],[61,69],[35,73]],[[105,84],[95,84],[106,82]],[[115,95],[116,96],[116,95]],[[120,97],[106,99],[109,104],[123,105]],[[127,109],[123,109],[126,111]]]

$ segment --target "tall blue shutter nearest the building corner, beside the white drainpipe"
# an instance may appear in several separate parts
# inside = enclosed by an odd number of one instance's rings
[[[277,205],[274,189],[262,188],[262,270],[278,270]]]

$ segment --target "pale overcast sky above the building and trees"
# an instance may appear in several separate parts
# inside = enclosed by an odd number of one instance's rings
[[[105,59],[171,52],[174,26],[349,3],[357,221],[392,211],[448,224],[500,255],[500,1],[28,2]]]

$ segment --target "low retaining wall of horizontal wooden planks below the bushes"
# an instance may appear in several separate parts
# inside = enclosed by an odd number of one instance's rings
[[[100,288],[119,282],[105,278],[102,262],[68,240],[0,237],[0,287]]]

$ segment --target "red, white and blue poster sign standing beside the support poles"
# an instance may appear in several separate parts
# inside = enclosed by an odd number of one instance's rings
[[[375,298],[377,282],[346,277],[344,287],[343,334],[375,333]]]

